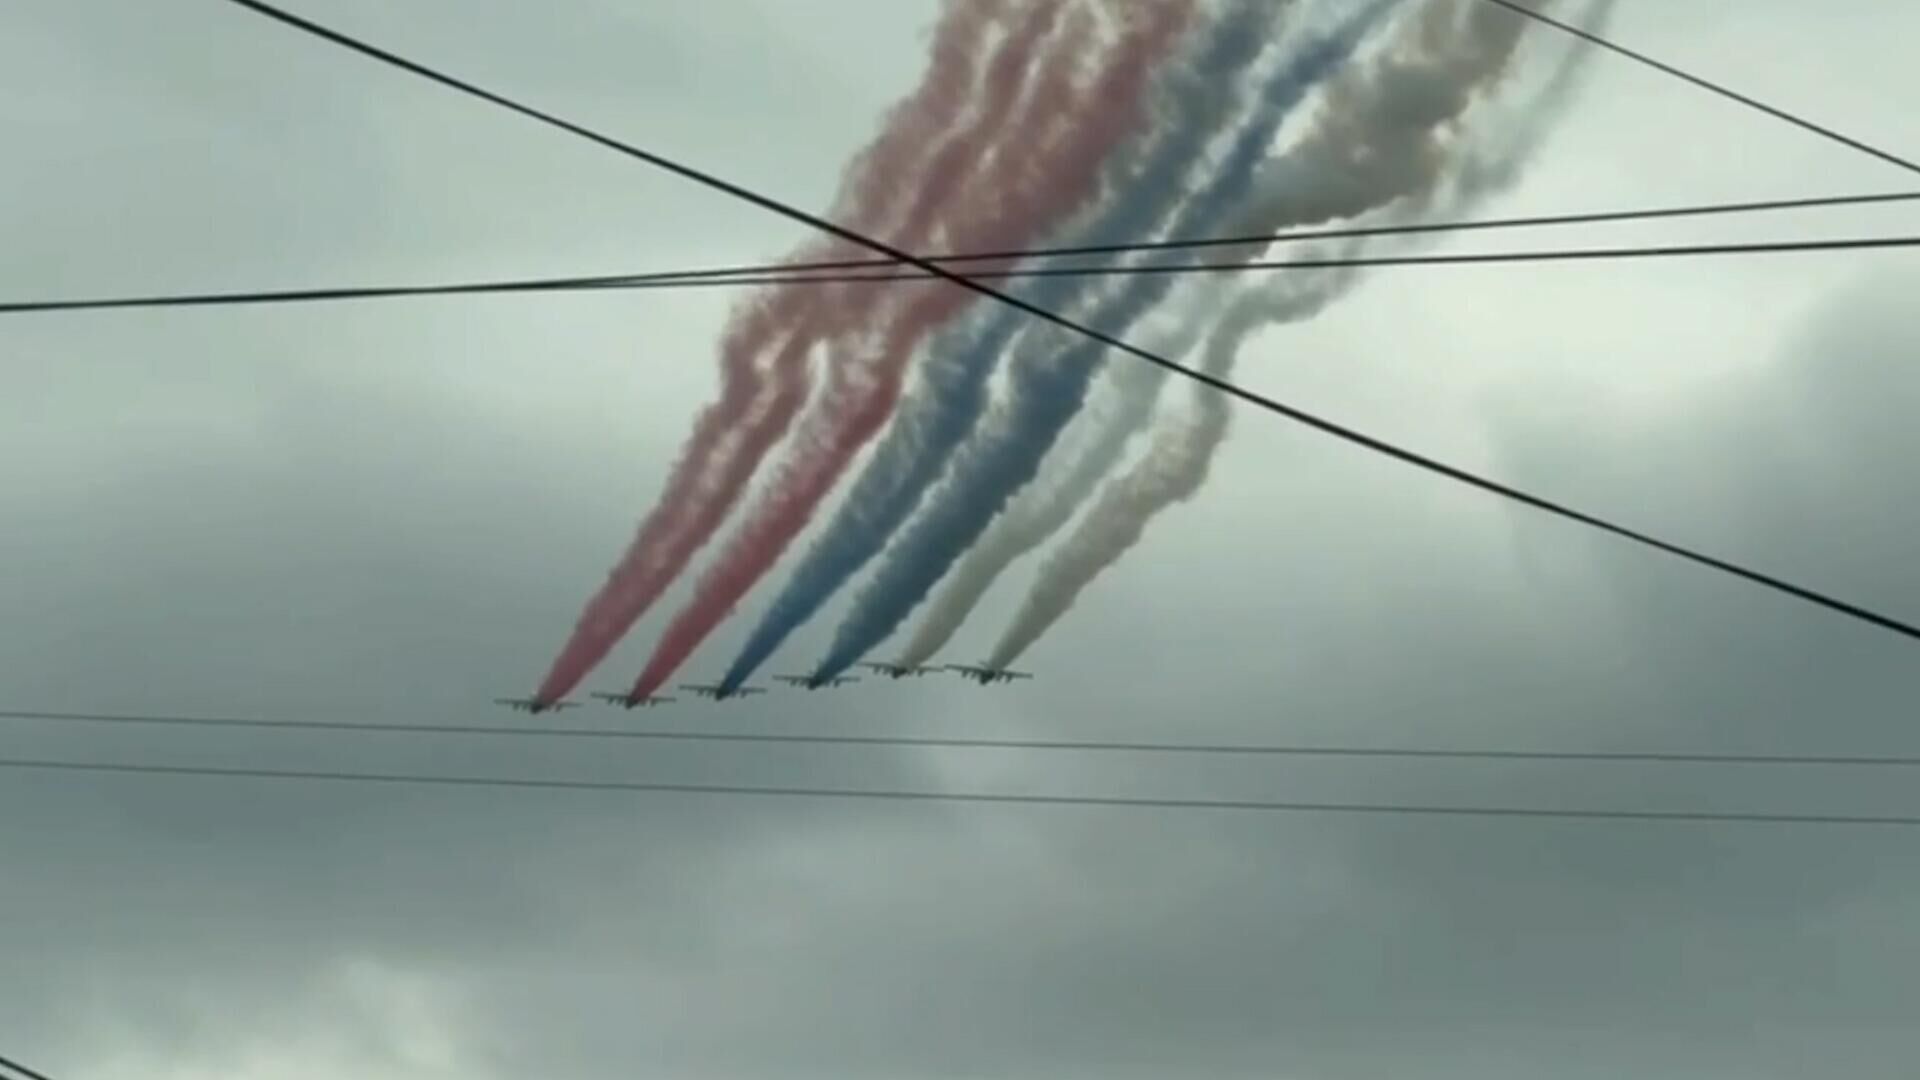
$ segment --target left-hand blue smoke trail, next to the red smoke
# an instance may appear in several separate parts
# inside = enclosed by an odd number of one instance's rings
[[[1246,92],[1240,75],[1254,65],[1271,38],[1283,6],[1271,0],[1238,0],[1154,94],[1152,133],[1137,152],[1119,154],[1102,167],[1100,183],[1119,192],[1062,246],[1121,244],[1154,233],[1192,183],[1190,173],[1206,144]],[[1052,259],[1066,265],[1066,259]],[[1021,281],[1014,292],[1046,307],[1085,302],[1094,279]],[[995,307],[941,332],[924,365],[924,386],[906,400],[854,482],[847,503],[828,530],[808,548],[787,586],[755,626],[724,686],[743,684],[787,636],[806,623],[864,567],[887,538],[920,505],[939,480],[954,448],[966,440],[987,409],[987,384],[995,363],[1031,321],[1010,307]]]

